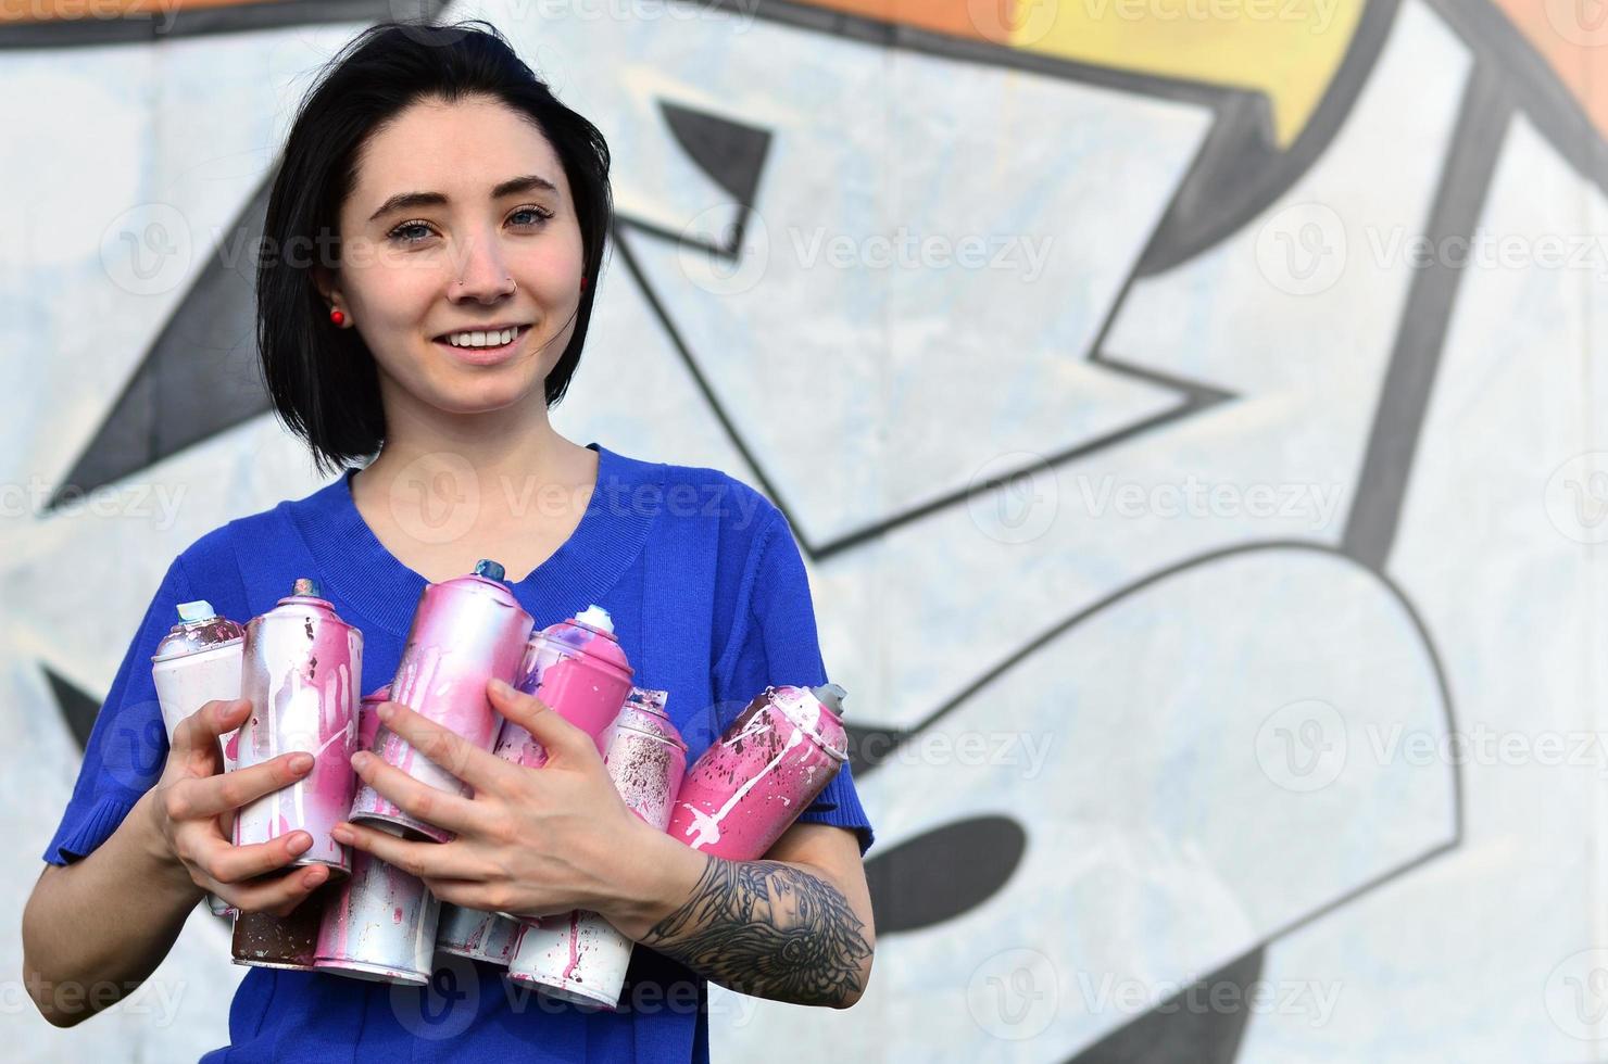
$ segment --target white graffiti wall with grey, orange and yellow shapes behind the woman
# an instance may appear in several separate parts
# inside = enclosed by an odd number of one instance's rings
[[[167,563],[323,482],[252,241],[418,13],[614,149],[555,423],[775,500],[851,691],[870,990],[717,1061],[1608,1059],[1595,0],[0,5],[10,911]],[[241,972],[198,913],[58,1032],[0,961],[39,1061]]]

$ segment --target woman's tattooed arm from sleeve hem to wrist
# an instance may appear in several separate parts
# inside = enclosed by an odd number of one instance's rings
[[[634,897],[603,913],[621,934],[759,998],[849,1008],[876,931],[852,831],[799,823],[757,861],[642,837]]]

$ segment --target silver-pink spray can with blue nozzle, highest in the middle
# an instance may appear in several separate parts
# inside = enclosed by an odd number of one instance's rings
[[[391,681],[392,702],[413,709],[482,751],[492,749],[502,723],[486,685],[494,677],[515,681],[534,624],[502,579],[502,566],[481,559],[471,575],[428,585]],[[437,791],[470,794],[468,784],[389,728],[379,728],[373,752]],[[402,812],[365,783],[357,786],[351,820],[397,825],[407,828],[412,837],[433,842],[452,837],[450,831]]]

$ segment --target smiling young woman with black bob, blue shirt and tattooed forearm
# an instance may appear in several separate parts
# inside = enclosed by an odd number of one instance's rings
[[[827,681],[773,505],[714,469],[580,447],[548,423],[580,358],[611,211],[597,129],[484,23],[376,26],[309,93],[269,201],[259,341],[285,423],[344,474],[199,538],[158,588],[24,915],[24,968],[51,1022],[111,1000],[72,1009],[50,987],[137,985],[207,890],[283,915],[325,878],[281,871],[306,833],[235,847],[220,829],[309,760],[222,775],[217,736],[246,702],[211,702],[166,741],[150,659],[178,603],[244,620],[315,577],[362,630],[373,688],[396,670],[425,583],[494,558],[539,625],[589,603],[613,614],[637,683],[669,691],[690,757],[765,685]],[[552,751],[545,768],[455,747],[397,707],[391,726],[461,767],[474,797],[421,791],[362,754],[354,767],[457,839],[343,831],[445,902],[603,913],[640,943],[621,1009],[511,993],[484,964],[453,968],[447,1000],[441,985],[252,968],[232,1046],[206,1059],[698,1061],[706,979],[804,1005],[859,1000],[872,828],[847,767],[765,860],[725,861],[634,816],[585,735],[539,701],[490,696]]]

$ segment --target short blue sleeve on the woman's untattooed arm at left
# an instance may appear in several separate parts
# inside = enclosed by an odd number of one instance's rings
[[[151,680],[151,654],[177,620],[177,606],[193,598],[183,564],[175,558],[95,717],[72,797],[45,849],[48,863],[68,865],[93,852],[161,778],[167,730]]]

